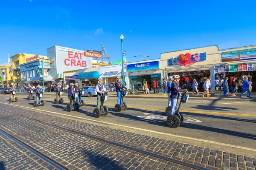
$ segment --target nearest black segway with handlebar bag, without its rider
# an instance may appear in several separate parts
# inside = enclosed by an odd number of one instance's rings
[[[186,103],[189,99],[189,94],[185,94],[183,92],[182,96],[181,96],[181,99],[180,99],[180,104],[179,104],[179,107],[177,108],[177,111],[175,109],[175,114],[172,114],[172,115],[169,115],[167,117],[167,125],[171,128],[177,128],[180,126],[180,123],[183,122],[183,114],[180,113],[180,105],[181,103]],[[169,113],[170,114],[170,113]]]

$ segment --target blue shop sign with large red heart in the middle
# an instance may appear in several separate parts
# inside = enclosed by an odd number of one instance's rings
[[[180,66],[189,66],[193,65],[198,61],[205,61],[206,60],[206,53],[200,53],[200,54],[180,54],[176,58],[168,59],[167,65],[180,65]]]

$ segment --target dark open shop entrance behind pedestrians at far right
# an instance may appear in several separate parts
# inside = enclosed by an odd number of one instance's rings
[[[242,76],[244,75],[250,75],[251,76],[251,82],[252,82],[252,92],[256,92],[256,71],[236,71],[236,72],[226,72],[226,77],[229,79],[227,80],[229,86],[230,86],[230,77],[236,77],[237,82],[239,82],[240,79],[242,79]],[[249,81],[250,79],[248,79]],[[250,82],[250,81],[249,81]]]

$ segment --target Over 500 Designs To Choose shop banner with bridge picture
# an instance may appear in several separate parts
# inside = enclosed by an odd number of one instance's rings
[[[222,53],[222,62],[256,59],[256,48]]]

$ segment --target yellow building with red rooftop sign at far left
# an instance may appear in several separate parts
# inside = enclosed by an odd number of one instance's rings
[[[26,62],[30,62],[39,58],[44,58],[46,56],[39,56],[35,54],[16,54],[11,57],[12,59],[12,67],[9,70],[10,79],[8,79],[8,83],[12,85],[15,84],[17,86],[23,85],[23,82],[20,81],[20,67],[17,65],[24,64]],[[7,73],[8,74],[8,73]],[[7,75],[8,77],[8,75]]]

